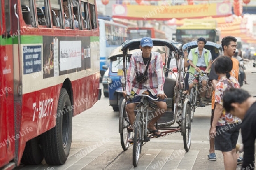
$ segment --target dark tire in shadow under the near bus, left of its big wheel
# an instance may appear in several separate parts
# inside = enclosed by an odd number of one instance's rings
[[[27,141],[20,162],[24,165],[38,165],[42,162],[43,158],[38,138],[35,137]]]

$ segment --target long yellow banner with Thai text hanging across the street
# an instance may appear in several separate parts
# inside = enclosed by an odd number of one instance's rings
[[[205,16],[232,15],[230,3],[210,3],[205,5],[142,6],[142,5],[113,5],[113,18],[138,20],[170,20],[172,18],[202,18]]]

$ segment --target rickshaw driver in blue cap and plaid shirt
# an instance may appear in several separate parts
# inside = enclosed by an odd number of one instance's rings
[[[127,71],[127,86],[126,91],[123,91],[123,97],[126,98],[130,95],[131,101],[127,100],[126,112],[130,120],[131,126],[127,129],[133,131],[133,125],[135,120],[134,109],[141,99],[140,96],[146,92],[147,95],[159,99],[155,102],[158,106],[159,113],[156,113],[154,118],[148,123],[148,131],[154,134],[155,137],[160,137],[161,132],[155,128],[155,123],[167,110],[166,100],[167,96],[164,94],[164,72],[163,72],[163,62],[160,53],[152,52],[153,42],[150,37],[143,37],[141,40],[141,52],[133,53],[130,59],[130,64]],[[137,73],[143,74],[146,70],[147,62],[149,62],[148,70],[146,71],[147,80],[143,83],[137,82]],[[130,141],[131,142],[131,141]]]

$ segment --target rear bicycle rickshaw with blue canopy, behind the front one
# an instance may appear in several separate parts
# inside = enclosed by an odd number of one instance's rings
[[[196,48],[197,47],[197,41],[191,41],[188,42],[187,44],[184,44],[182,46],[182,50],[187,50],[187,52],[189,53],[190,50],[192,48]],[[220,44],[216,44],[214,42],[211,41],[207,41],[207,43],[204,46],[205,49],[208,49],[210,51],[210,53],[212,54],[212,59],[216,59],[218,56],[220,56],[222,54],[222,47]],[[201,88],[201,84],[199,84],[199,78],[201,75],[203,75],[205,73],[201,72],[198,74],[192,74],[189,73],[189,76],[195,76],[195,81],[193,88],[191,89],[190,92],[190,103],[191,103],[191,121],[193,121],[193,114],[196,111],[197,108],[197,104],[200,101],[200,94],[199,92],[202,90],[200,90]],[[207,91],[205,93],[205,104],[212,104],[212,84],[210,83],[210,81],[208,81],[207,83]]]

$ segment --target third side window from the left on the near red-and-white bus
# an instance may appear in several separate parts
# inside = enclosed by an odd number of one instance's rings
[[[63,27],[63,17],[61,12],[61,4],[60,0],[51,1],[51,16],[52,16],[52,24],[56,28],[64,28]]]

